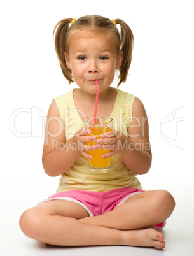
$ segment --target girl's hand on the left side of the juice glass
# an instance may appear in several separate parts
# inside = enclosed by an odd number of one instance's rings
[[[88,150],[95,150],[97,149],[97,145],[88,146],[87,142],[95,141],[97,138],[96,136],[90,135],[92,131],[90,129],[85,129],[84,127],[81,128],[76,134],[74,134],[74,138],[76,138],[76,145],[78,151],[83,155],[83,157],[87,159],[92,159],[92,155],[88,155]]]

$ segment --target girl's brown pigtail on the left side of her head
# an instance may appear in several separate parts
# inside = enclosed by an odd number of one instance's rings
[[[72,18],[65,18],[64,20],[60,20],[60,22],[57,23],[53,31],[55,50],[60,63],[60,68],[62,69],[62,73],[65,76],[65,78],[69,81],[69,83],[74,82],[74,80],[72,78],[71,70],[66,65],[64,53],[67,52],[66,36],[67,31],[69,29],[69,24],[71,24],[72,20]]]

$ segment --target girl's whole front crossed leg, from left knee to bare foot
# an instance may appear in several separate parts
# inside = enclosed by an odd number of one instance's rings
[[[154,229],[122,231],[78,220],[86,216],[87,211],[76,203],[49,201],[25,211],[20,217],[20,228],[32,239],[59,246],[129,245],[158,249],[165,246],[163,235]]]

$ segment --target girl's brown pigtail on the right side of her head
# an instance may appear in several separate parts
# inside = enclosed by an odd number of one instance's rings
[[[134,36],[130,27],[120,19],[115,20],[116,24],[120,24],[121,51],[123,52],[123,60],[119,68],[119,83],[117,87],[127,80],[128,69],[132,60],[132,50],[134,46]]]

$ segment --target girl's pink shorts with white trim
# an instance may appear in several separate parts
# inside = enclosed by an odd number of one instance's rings
[[[60,199],[72,201],[80,204],[90,216],[97,216],[108,211],[114,210],[116,207],[123,204],[129,197],[144,192],[137,188],[118,188],[107,192],[93,192],[84,190],[69,190],[54,194],[40,201],[38,204],[46,201]]]

